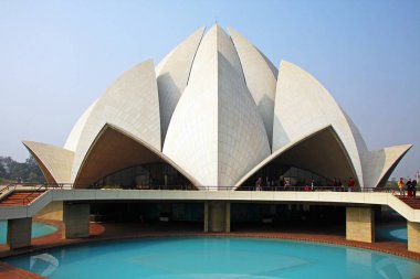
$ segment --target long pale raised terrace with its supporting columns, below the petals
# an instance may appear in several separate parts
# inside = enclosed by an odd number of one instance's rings
[[[25,236],[13,232],[25,232],[28,223],[32,221],[44,207],[52,203],[62,203],[63,222],[66,238],[88,236],[88,222],[91,204],[97,202],[195,202],[203,206],[203,230],[209,233],[230,232],[230,208],[232,203],[264,203],[264,204],[303,204],[303,205],[339,205],[346,207],[346,238],[350,240],[372,243],[375,242],[375,211],[374,206],[386,205],[398,212],[407,219],[409,250],[420,253],[417,245],[420,239],[420,210],[412,204],[417,201],[400,198],[390,192],[335,192],[327,189],[316,191],[279,191],[279,189],[266,189],[265,191],[213,191],[207,190],[98,190],[98,189],[72,189],[51,187],[48,185],[32,187],[38,192],[36,198],[28,204],[14,204],[2,206],[0,203],[0,219],[8,219],[8,244],[10,247],[19,248],[30,246],[30,232]],[[3,198],[19,187],[10,187],[10,193],[2,191]],[[269,191],[270,190],[270,191]],[[29,191],[28,187],[20,191]],[[39,193],[42,193],[39,195]],[[410,206],[411,204],[411,206]],[[13,245],[13,238],[24,238],[23,244]],[[19,240],[18,243],[22,243]]]

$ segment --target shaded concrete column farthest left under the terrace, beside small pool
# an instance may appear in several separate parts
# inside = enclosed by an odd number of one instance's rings
[[[7,244],[10,249],[31,246],[32,218],[8,219]]]

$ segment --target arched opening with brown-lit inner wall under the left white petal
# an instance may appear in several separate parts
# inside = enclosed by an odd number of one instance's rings
[[[119,185],[188,185],[192,179],[158,150],[111,125],[105,125],[78,170],[75,187]],[[165,182],[166,181],[166,182]]]

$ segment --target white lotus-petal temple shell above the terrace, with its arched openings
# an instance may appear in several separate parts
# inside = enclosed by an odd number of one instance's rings
[[[369,151],[318,81],[288,62],[277,69],[229,33],[201,28],[157,66],[128,69],[82,115],[64,148],[24,141],[46,181],[233,191],[270,173],[273,181],[385,184],[410,144]]]

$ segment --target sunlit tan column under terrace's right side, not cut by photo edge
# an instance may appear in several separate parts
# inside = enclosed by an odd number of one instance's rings
[[[346,208],[346,239],[375,243],[375,214],[372,208]]]

